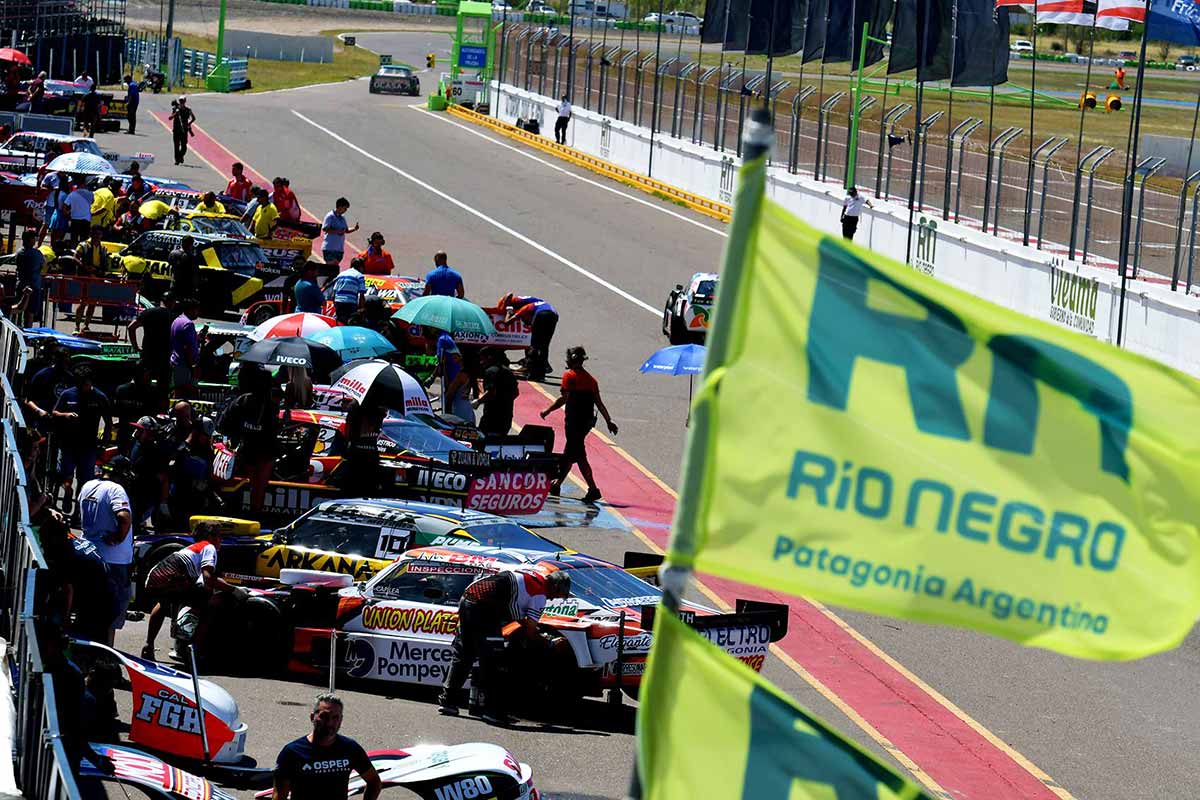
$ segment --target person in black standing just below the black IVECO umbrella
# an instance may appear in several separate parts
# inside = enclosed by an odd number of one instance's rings
[[[236,452],[238,465],[250,477],[251,513],[263,510],[278,447],[280,407],[271,397],[270,380],[262,367],[242,363],[238,379],[241,393],[217,423]]]

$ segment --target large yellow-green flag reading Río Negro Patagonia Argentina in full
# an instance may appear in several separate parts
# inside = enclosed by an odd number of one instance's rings
[[[1200,384],[739,206],[671,563],[1088,658],[1187,636]]]

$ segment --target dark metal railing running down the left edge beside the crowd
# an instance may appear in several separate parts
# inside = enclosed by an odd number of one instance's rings
[[[28,479],[18,447],[25,420],[13,384],[23,379],[30,349],[7,318],[0,317],[0,628],[7,639],[16,688],[13,771],[26,798],[77,799],[59,728],[54,679],[47,673],[36,622],[49,573],[29,518]]]

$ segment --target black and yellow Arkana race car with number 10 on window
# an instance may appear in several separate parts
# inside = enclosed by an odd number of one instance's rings
[[[414,500],[326,500],[264,535],[248,519],[192,518],[193,528],[200,523],[227,531],[221,575],[244,584],[274,584],[282,570],[340,572],[366,581],[401,553],[438,545],[571,552],[504,517]],[[158,561],[194,541],[191,534],[138,535],[133,548],[138,585],[145,584]]]

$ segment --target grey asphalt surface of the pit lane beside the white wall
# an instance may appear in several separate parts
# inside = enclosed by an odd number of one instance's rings
[[[430,49],[445,50],[448,42],[439,34],[376,34],[359,41],[413,64],[424,64]],[[434,85],[434,76],[421,77],[426,90]],[[146,114],[164,110],[167,101],[167,96],[144,95],[144,136],[102,139],[119,150],[156,152],[160,163],[145,170],[150,175],[179,178],[198,188],[221,186],[211,169],[193,157],[182,168],[169,164],[169,137]],[[652,308],[661,307],[674,283],[719,265],[724,237],[680,217],[709,228],[721,225],[566,164],[551,161],[552,168],[533,161],[506,139],[490,143],[474,130],[450,125],[444,115],[410,108],[415,102],[372,96],[366,82],[352,82],[257,96],[198,96],[192,106],[199,125],[236,156],[268,176],[289,175],[310,211],[322,215],[340,194],[349,197],[349,217],[362,224],[352,240],[361,245],[365,233],[383,230],[398,271],[424,273],[432,253],[444,247],[450,263],[464,272],[470,296],[491,301],[508,290],[526,290],[554,302],[563,314],[554,350],[574,343],[588,347],[589,367],[622,425],[618,445],[667,483],[677,483],[686,387],[683,379],[636,372],[646,355],[666,344],[655,314],[347,148],[293,110],[611,281]],[[529,155],[548,161],[541,154]],[[647,207],[646,200],[674,216]],[[599,480],[602,486],[604,476]],[[547,533],[616,560],[625,549],[644,549],[632,536],[613,530]],[[1096,664],[971,632],[842,615],[1076,798],[1194,796],[1194,753],[1200,746],[1194,724],[1200,702],[1190,691],[1200,678],[1195,636],[1162,656],[1132,664]],[[139,649],[140,639],[122,637],[122,642],[126,649]],[[768,676],[882,753],[774,658]],[[251,723],[251,752],[264,762],[304,730],[306,709],[283,703],[304,704],[318,688],[281,681],[221,682],[241,703]],[[530,763],[541,776],[539,784],[552,793],[619,796],[624,792],[632,753],[630,724],[599,733],[498,732],[479,722],[443,720],[427,698],[414,697],[350,692],[346,733],[371,746],[439,739],[497,741]]]

